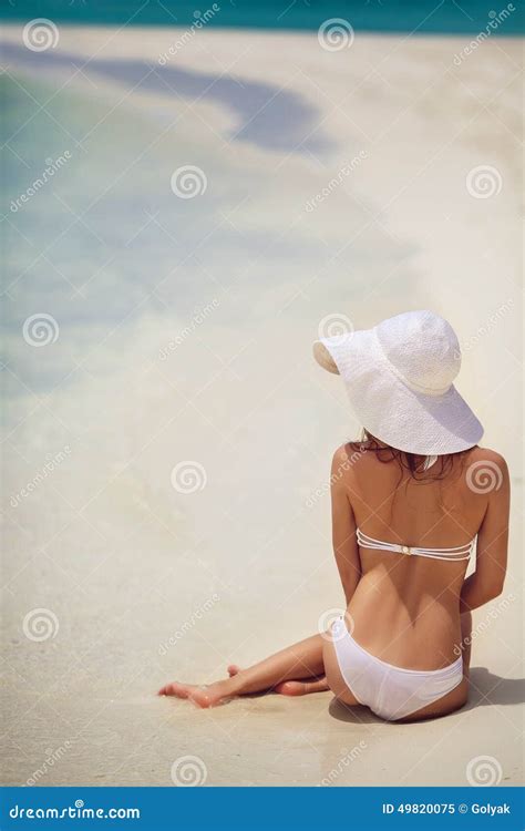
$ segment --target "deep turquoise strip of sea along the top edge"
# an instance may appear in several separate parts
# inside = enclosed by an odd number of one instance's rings
[[[506,2],[453,2],[453,0],[360,0],[360,2],[338,2],[300,0],[228,0],[218,2],[218,11],[208,25],[248,27],[255,29],[316,30],[327,18],[344,18],[354,30],[378,32],[443,32],[451,34],[477,33],[484,30],[491,11],[500,12],[507,8]],[[498,34],[511,35],[524,32],[523,4],[512,3],[511,14]],[[174,3],[166,0],[156,2],[93,2],[90,0],[17,0],[4,4],[0,18],[4,20],[28,20],[34,17],[51,18],[55,22],[71,23],[127,23],[128,25],[187,25],[195,20],[198,10],[204,13],[212,2],[200,4]]]

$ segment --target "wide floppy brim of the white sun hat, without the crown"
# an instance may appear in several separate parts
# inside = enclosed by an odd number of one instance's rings
[[[373,329],[321,338],[313,357],[341,376],[356,416],[380,441],[406,453],[443,455],[473,448],[483,427],[452,384],[435,396],[414,390],[385,361]]]

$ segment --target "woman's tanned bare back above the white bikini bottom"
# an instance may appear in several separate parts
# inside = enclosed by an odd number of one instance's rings
[[[353,535],[360,572],[357,582],[356,574],[350,575],[352,585],[347,592],[353,637],[368,652],[395,666],[437,669],[459,655],[460,595],[469,561],[359,548],[356,530],[406,546],[447,548],[467,544],[481,534],[491,493],[497,486],[497,481],[492,489],[485,480],[476,484],[482,465],[498,476],[504,461],[493,451],[473,448],[452,456],[452,466],[443,476],[439,475],[437,462],[416,481],[397,460],[381,458],[384,453],[378,456],[367,445],[357,453],[346,445],[334,456],[336,469],[342,471],[340,490],[346,492],[349,513],[343,533]],[[334,502],[337,513],[337,496]],[[340,517],[338,524],[341,527]],[[351,543],[344,545],[348,558]],[[334,546],[337,550],[338,540]],[[341,577],[344,585],[343,573]]]

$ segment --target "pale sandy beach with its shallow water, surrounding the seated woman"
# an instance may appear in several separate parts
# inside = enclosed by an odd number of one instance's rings
[[[491,757],[518,784],[521,43],[204,30],[162,63],[181,34],[3,30],[2,781],[457,786]],[[459,331],[514,489],[470,704],[389,725],[330,694],[155,697],[341,607],[329,464],[361,425],[311,341],[418,308]]]

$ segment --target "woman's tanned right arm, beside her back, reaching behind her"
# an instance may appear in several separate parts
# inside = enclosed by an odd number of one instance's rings
[[[476,571],[463,583],[460,612],[471,612],[503,592],[507,567],[511,483],[505,460],[487,451],[487,470],[497,473],[500,486],[488,494],[488,503],[477,533]],[[494,466],[495,465],[495,466]],[[497,468],[497,471],[496,471]]]

